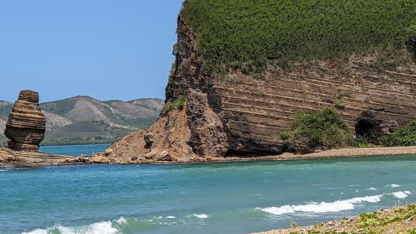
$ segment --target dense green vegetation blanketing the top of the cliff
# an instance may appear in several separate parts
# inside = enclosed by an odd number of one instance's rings
[[[245,73],[268,60],[402,50],[415,15],[414,0],[185,0],[180,12],[207,68]]]

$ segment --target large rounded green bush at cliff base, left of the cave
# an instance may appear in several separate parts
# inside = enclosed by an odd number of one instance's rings
[[[301,141],[314,148],[334,148],[342,147],[350,137],[338,111],[326,108],[310,114],[295,112],[291,129],[282,132],[280,138]]]

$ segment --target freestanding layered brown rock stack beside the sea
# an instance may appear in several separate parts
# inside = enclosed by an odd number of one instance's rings
[[[26,152],[39,152],[45,138],[46,118],[39,107],[39,94],[22,90],[13,105],[4,134],[10,141],[5,147]]]

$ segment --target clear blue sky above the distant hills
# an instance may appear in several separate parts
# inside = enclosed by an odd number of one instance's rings
[[[0,2],[0,100],[165,98],[183,0]]]

